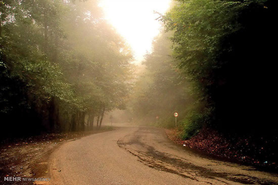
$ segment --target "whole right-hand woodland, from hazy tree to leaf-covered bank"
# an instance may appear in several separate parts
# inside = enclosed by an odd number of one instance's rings
[[[157,14],[163,31],[131,94],[135,120],[174,128],[178,112],[174,142],[277,169],[277,1],[180,0]]]

